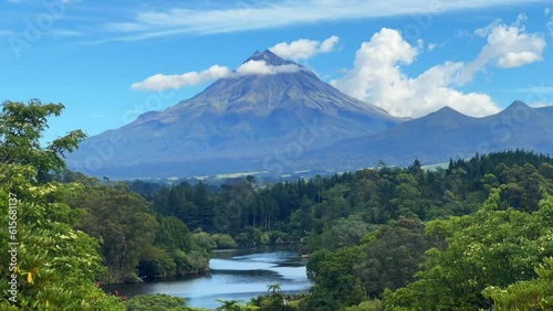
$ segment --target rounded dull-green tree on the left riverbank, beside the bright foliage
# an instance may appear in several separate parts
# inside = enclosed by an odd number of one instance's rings
[[[85,214],[76,228],[97,238],[107,267],[104,281],[135,281],[136,267],[145,249],[153,245],[158,223],[147,202],[129,193],[123,184],[84,184],[85,191],[69,200]]]

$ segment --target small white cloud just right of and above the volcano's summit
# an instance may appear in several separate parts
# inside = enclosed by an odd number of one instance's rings
[[[301,61],[309,60],[320,53],[328,53],[334,51],[340,37],[332,35],[323,42],[309,39],[300,39],[291,43],[281,42],[273,47],[269,47],[274,54],[281,57]]]

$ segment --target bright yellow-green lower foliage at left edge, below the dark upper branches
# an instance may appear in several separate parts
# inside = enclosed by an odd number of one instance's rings
[[[6,169],[6,168],[4,168]],[[0,181],[0,200],[8,202],[8,192],[18,194],[18,308],[19,310],[106,310],[117,299],[107,297],[94,286],[103,266],[97,255],[97,242],[82,232],[71,228],[71,208],[52,201],[54,197],[75,191],[75,185],[31,185],[25,181],[25,167],[10,167]],[[7,182],[7,181],[10,182]],[[0,204],[2,227],[8,227],[8,206]],[[10,262],[9,236],[0,234],[1,262]],[[0,266],[2,279],[13,271]],[[7,282],[0,285],[6,293]],[[0,301],[0,307],[10,302]]]

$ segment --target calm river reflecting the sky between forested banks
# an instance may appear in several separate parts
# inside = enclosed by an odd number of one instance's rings
[[[108,286],[106,291],[118,290],[133,297],[140,293],[167,293],[184,297],[191,307],[217,308],[216,299],[250,298],[267,293],[267,286],[281,283],[283,292],[303,292],[311,287],[305,275],[305,259],[286,249],[255,248],[215,250],[209,276],[175,281]]]

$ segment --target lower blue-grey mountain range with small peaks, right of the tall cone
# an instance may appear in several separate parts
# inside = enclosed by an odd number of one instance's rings
[[[373,167],[379,160],[408,165],[465,159],[474,153],[528,149],[553,154],[553,109],[513,101],[497,115],[473,118],[445,107],[374,136],[337,142],[304,157],[325,154],[317,163],[338,170]]]

